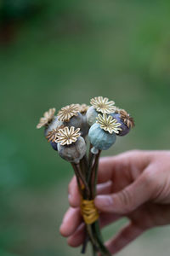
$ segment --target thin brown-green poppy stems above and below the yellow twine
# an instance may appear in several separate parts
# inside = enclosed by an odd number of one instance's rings
[[[84,155],[82,160],[78,164],[71,163],[71,166],[74,169],[74,172],[77,177],[77,186],[79,189],[79,193],[83,202],[92,202],[94,207],[94,198],[96,195],[96,186],[97,186],[97,178],[98,178],[98,166],[99,166],[99,155],[101,150],[97,154],[91,152],[91,148],[93,146],[90,144],[89,154]],[[82,218],[83,216],[83,206],[82,209]],[[104,241],[101,236],[100,228],[99,228],[99,214],[97,209],[94,207],[95,216],[94,220],[89,223],[85,221],[86,224],[86,239],[82,246],[82,253],[85,253],[86,246],[88,241],[91,242],[93,248],[93,255],[98,255],[100,253],[101,256],[111,256],[108,249],[104,245]],[[91,218],[92,216],[89,216]]]

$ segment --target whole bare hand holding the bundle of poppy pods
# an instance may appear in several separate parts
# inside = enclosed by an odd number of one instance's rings
[[[170,151],[133,150],[101,158],[95,206],[101,227],[127,217],[129,223],[105,243],[112,255],[145,230],[170,224]],[[76,177],[69,185],[71,207],[60,233],[71,247],[85,238]]]

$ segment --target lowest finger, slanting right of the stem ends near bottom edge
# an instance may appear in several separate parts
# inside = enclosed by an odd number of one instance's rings
[[[112,255],[115,255],[143,232],[144,230],[141,230],[135,224],[127,224],[114,238],[106,242],[106,247],[108,247]]]

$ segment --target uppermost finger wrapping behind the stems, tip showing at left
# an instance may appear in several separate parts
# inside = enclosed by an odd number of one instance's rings
[[[120,186],[120,178],[125,180],[122,186],[127,186],[131,182],[133,176],[137,176],[137,172],[143,170],[142,167],[146,166],[149,153],[145,151],[133,150],[123,154],[118,154],[114,157],[103,157],[99,160],[99,174],[98,183],[106,183],[113,181],[115,189]],[[129,176],[127,178],[127,176]],[[101,193],[100,193],[101,194]],[[80,195],[77,188],[77,179],[74,176],[69,184],[69,202],[71,207],[78,207],[80,205]]]

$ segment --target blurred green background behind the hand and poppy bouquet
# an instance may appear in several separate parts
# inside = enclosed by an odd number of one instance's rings
[[[104,154],[169,148],[169,25],[169,0],[0,2],[0,255],[80,255],[59,236],[72,170],[36,130],[48,108],[108,96],[136,127]],[[167,256],[169,232],[118,255]]]

